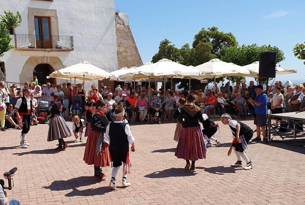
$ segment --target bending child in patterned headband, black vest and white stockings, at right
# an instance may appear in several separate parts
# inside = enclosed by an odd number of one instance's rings
[[[247,143],[253,137],[253,130],[246,125],[245,123],[239,122],[237,120],[232,120],[229,114],[223,114],[220,117],[221,122],[224,125],[229,125],[233,134],[232,145],[228,151],[228,156],[231,155],[232,147],[235,147],[234,152],[237,157],[237,162],[231,164],[232,167],[242,167],[242,159],[247,163],[247,166],[244,167],[245,170],[252,169],[253,164],[247,157],[244,152],[245,149],[248,149]]]

